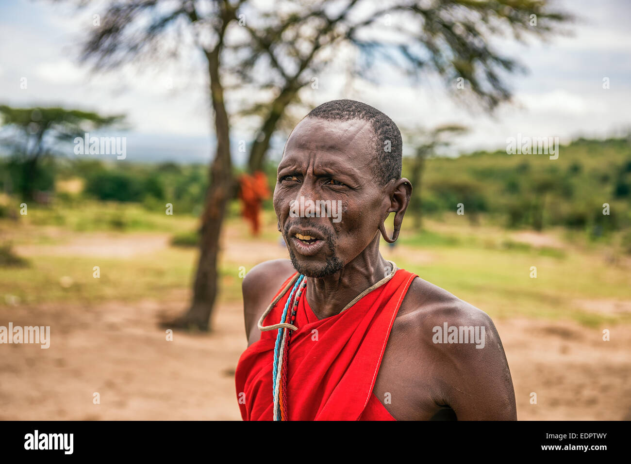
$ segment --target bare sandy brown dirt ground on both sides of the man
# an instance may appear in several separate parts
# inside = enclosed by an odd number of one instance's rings
[[[218,307],[211,335],[175,332],[167,341],[158,321],[181,311],[188,297],[182,291],[134,304],[0,310],[0,320],[14,326],[38,320],[54,327],[49,349],[5,347],[0,419],[240,419],[234,391],[234,368],[246,345],[240,305]],[[631,419],[631,326],[611,327],[605,342],[601,329],[574,322],[495,325],[519,419]]]

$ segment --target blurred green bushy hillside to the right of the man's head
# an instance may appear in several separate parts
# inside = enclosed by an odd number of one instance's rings
[[[440,217],[463,203],[464,219],[471,213],[474,224],[484,212],[508,228],[563,226],[608,236],[631,228],[630,151],[627,139],[579,139],[561,146],[557,160],[505,151],[429,158],[420,189],[423,210]],[[404,177],[411,163],[404,159]],[[609,214],[603,214],[604,203]]]

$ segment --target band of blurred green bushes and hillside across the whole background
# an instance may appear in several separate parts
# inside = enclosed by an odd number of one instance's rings
[[[454,214],[464,204],[464,221],[488,221],[507,228],[546,229],[562,226],[587,233],[592,240],[611,240],[615,231],[631,228],[631,197],[620,185],[631,184],[630,148],[625,139],[587,141],[579,139],[560,148],[558,160],[545,155],[509,155],[504,151],[478,152],[459,158],[428,158],[420,188],[423,214],[429,219]],[[403,175],[409,178],[409,158],[404,158]],[[22,182],[20,176],[35,176],[25,161],[0,160],[0,183],[5,191]],[[145,211],[164,214],[165,204],[174,205],[175,214],[199,216],[208,188],[208,168],[203,165],[135,165],[103,163],[93,160],[45,158],[40,163],[38,190],[53,190],[54,180],[80,178],[83,194],[56,195],[57,201],[73,207],[86,199],[137,203]],[[580,166],[580,167],[579,167]],[[266,165],[269,187],[276,182],[276,166]],[[1,175],[4,173],[4,175]],[[416,187],[416,186],[415,186]],[[603,204],[610,205],[603,214]],[[271,198],[263,204],[273,209]],[[410,209],[410,211],[412,211]],[[228,217],[240,216],[238,201],[230,202]],[[408,217],[408,216],[406,216]],[[47,216],[59,224],[64,218]],[[135,220],[135,219],[134,219]],[[112,212],[112,217],[94,219],[102,226],[134,228],[127,219]],[[140,226],[143,228],[144,226]],[[425,236],[432,243],[433,239]],[[189,241],[193,243],[193,241]],[[423,240],[419,239],[419,243]]]

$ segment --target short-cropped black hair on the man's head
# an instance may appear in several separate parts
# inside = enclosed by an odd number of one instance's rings
[[[370,122],[375,132],[374,162],[367,163],[373,175],[386,185],[392,179],[401,178],[403,142],[401,131],[384,113],[366,103],[355,100],[331,100],[315,107],[307,117],[347,121],[362,119]],[[387,143],[389,142],[389,143]],[[372,160],[370,160],[372,161]]]

